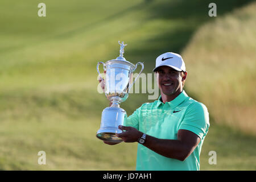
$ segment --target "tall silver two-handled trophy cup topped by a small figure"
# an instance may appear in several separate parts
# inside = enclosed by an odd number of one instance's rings
[[[118,126],[123,125],[127,115],[126,111],[119,107],[119,104],[126,101],[131,86],[133,86],[144,69],[144,65],[141,62],[134,65],[127,61],[123,57],[124,48],[127,44],[120,43],[120,41],[118,43],[121,45],[119,57],[106,61],[106,63],[98,62],[97,64],[97,72],[100,77],[101,73],[98,70],[100,64],[103,64],[104,71],[106,72],[104,91],[106,98],[112,102],[112,105],[102,111],[101,126],[97,131],[96,137],[108,142],[122,142],[122,139],[116,137],[115,134],[122,133]],[[142,69],[133,81],[133,72],[138,64],[141,64]]]

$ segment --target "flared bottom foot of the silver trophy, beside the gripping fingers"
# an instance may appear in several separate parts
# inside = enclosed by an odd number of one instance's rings
[[[122,142],[123,140],[119,137],[117,137],[115,135],[115,133],[117,132],[117,130],[119,129],[105,129],[108,131],[104,131],[104,130],[99,130],[96,134],[96,137],[98,139],[104,140],[106,142],[113,142],[113,143],[119,143]],[[111,132],[111,130],[113,130],[113,132]],[[120,130],[119,133],[122,133],[122,130]]]

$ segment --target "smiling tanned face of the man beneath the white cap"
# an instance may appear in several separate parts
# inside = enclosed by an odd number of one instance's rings
[[[179,94],[183,89],[183,81],[186,77],[181,76],[181,72],[173,68],[162,66],[156,70],[156,78],[161,94],[166,96],[174,96]]]

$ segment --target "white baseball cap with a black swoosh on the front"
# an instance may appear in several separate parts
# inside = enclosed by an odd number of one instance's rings
[[[153,69],[153,72],[155,72],[157,68],[162,66],[174,68],[179,72],[186,71],[185,63],[182,57],[179,54],[173,52],[166,52],[156,57],[155,69]]]

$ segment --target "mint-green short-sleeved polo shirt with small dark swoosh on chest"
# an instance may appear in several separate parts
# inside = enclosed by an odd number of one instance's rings
[[[167,158],[138,143],[136,170],[199,170],[199,155],[209,129],[207,107],[181,92],[171,102],[158,100],[145,103],[130,115],[125,126],[159,139],[177,139],[180,129],[189,130],[201,139],[199,145],[183,162]]]

